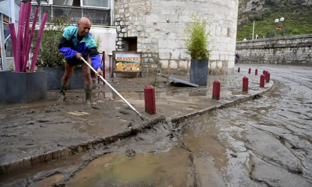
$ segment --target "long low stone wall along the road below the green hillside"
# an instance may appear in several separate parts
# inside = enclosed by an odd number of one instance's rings
[[[240,63],[312,65],[312,34],[236,42]]]

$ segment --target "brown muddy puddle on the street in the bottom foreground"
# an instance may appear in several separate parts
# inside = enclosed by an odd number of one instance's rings
[[[126,153],[95,159],[75,175],[66,187],[84,186],[187,186],[192,184],[188,152],[173,147],[160,154]]]

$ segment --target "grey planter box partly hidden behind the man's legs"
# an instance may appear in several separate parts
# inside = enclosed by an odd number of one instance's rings
[[[38,67],[38,70],[44,70],[47,72],[47,89],[61,89],[61,79],[64,75],[64,69],[61,68],[42,68]],[[85,80],[83,77],[82,69],[75,68],[71,79],[68,84],[68,89],[80,89],[85,88]]]

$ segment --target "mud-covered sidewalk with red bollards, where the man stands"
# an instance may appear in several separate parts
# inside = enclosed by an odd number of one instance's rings
[[[107,72],[108,76],[109,73]],[[247,70],[226,76],[208,76],[207,87],[184,87],[182,84],[166,86],[166,79],[158,79],[155,87],[156,111],[151,116],[144,112],[144,87],[155,80],[156,74],[130,77],[117,74],[106,80],[134,108],[150,119],[143,122],[108,86],[94,79],[93,104],[85,108],[83,89],[68,90],[66,101],[58,102],[59,90],[48,92],[48,99],[27,105],[0,103],[0,172],[7,174],[16,170],[49,162],[58,158],[88,151],[96,145],[107,145],[113,141],[135,134],[156,123],[160,115],[172,121],[202,115],[207,108],[231,103],[268,90],[273,82],[259,87],[260,74],[248,74]],[[249,78],[249,92],[242,91],[242,78]],[[175,78],[189,81],[187,75]],[[212,100],[212,83],[221,82],[221,99]],[[251,97],[250,97],[251,98]],[[243,101],[248,99],[243,99]],[[227,105],[226,107],[230,107]],[[201,111],[201,112],[198,112]],[[145,126],[144,126],[145,125]]]

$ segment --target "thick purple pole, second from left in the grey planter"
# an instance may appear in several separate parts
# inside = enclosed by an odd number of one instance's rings
[[[22,58],[22,42],[24,33],[24,21],[25,21],[25,2],[21,3],[20,14],[18,18],[18,30],[17,30],[17,43],[16,43],[16,61],[15,72],[21,72],[21,58]]]

